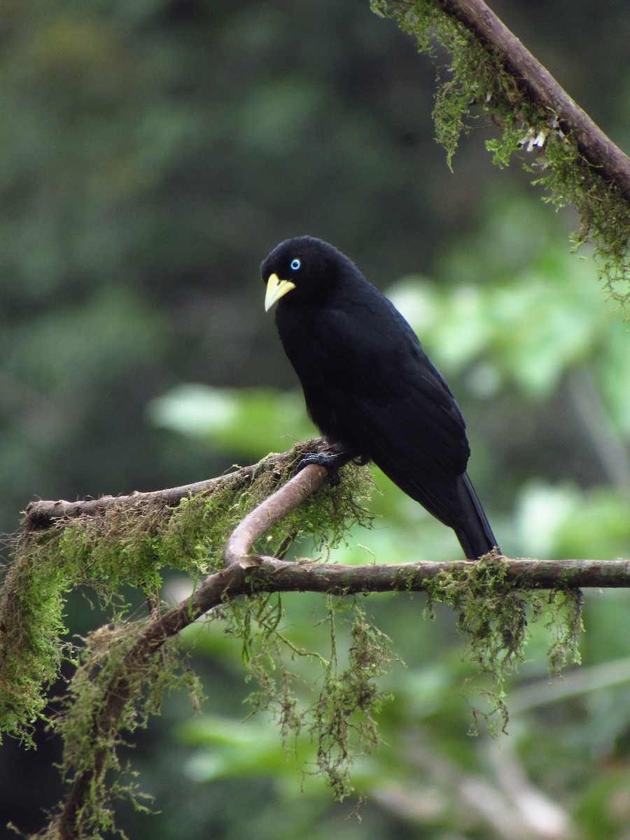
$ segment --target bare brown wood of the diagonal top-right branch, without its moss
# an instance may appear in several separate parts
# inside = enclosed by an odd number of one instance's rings
[[[516,35],[496,17],[483,0],[437,0],[438,5],[464,24],[503,68],[528,92],[533,102],[558,115],[559,126],[572,134],[587,160],[630,202],[630,159],[560,87],[549,71],[526,50]]]

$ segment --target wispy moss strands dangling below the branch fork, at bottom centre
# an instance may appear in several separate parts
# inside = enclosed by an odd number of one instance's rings
[[[284,611],[277,595],[232,602],[228,633],[243,642],[247,679],[256,685],[248,698],[252,710],[270,712],[287,753],[302,735],[315,743],[316,772],[343,800],[353,790],[354,759],[380,743],[376,717],[390,695],[376,680],[389,669],[391,643],[370,622],[358,598],[329,597],[327,606],[326,657],[297,648],[281,632]],[[340,665],[337,647],[340,622],[349,626],[346,667]],[[319,690],[306,700],[302,680],[291,667],[296,658],[311,659],[322,671]]]

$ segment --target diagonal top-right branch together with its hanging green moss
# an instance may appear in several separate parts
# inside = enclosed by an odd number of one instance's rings
[[[501,129],[500,139],[486,141],[494,162],[504,166],[520,154],[528,171],[540,168],[533,182],[549,190],[545,200],[557,207],[575,205],[582,224],[575,245],[591,239],[607,291],[625,306],[630,301],[627,155],[482,0],[372,0],[372,8],[396,18],[422,52],[434,56],[437,40],[450,53],[449,77],[438,78],[433,113],[449,164],[460,134],[470,130],[471,109],[488,113]]]

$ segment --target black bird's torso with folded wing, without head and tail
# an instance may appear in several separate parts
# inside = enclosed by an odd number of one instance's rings
[[[391,302],[363,281],[304,318],[294,308],[278,328],[323,433],[454,527],[470,454],[464,419]]]

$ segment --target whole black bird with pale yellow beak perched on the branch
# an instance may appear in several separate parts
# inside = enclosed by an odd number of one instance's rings
[[[312,421],[336,454],[373,460],[454,532],[469,559],[496,546],[466,465],[464,418],[416,334],[348,257],[320,239],[281,242],[260,266]]]

